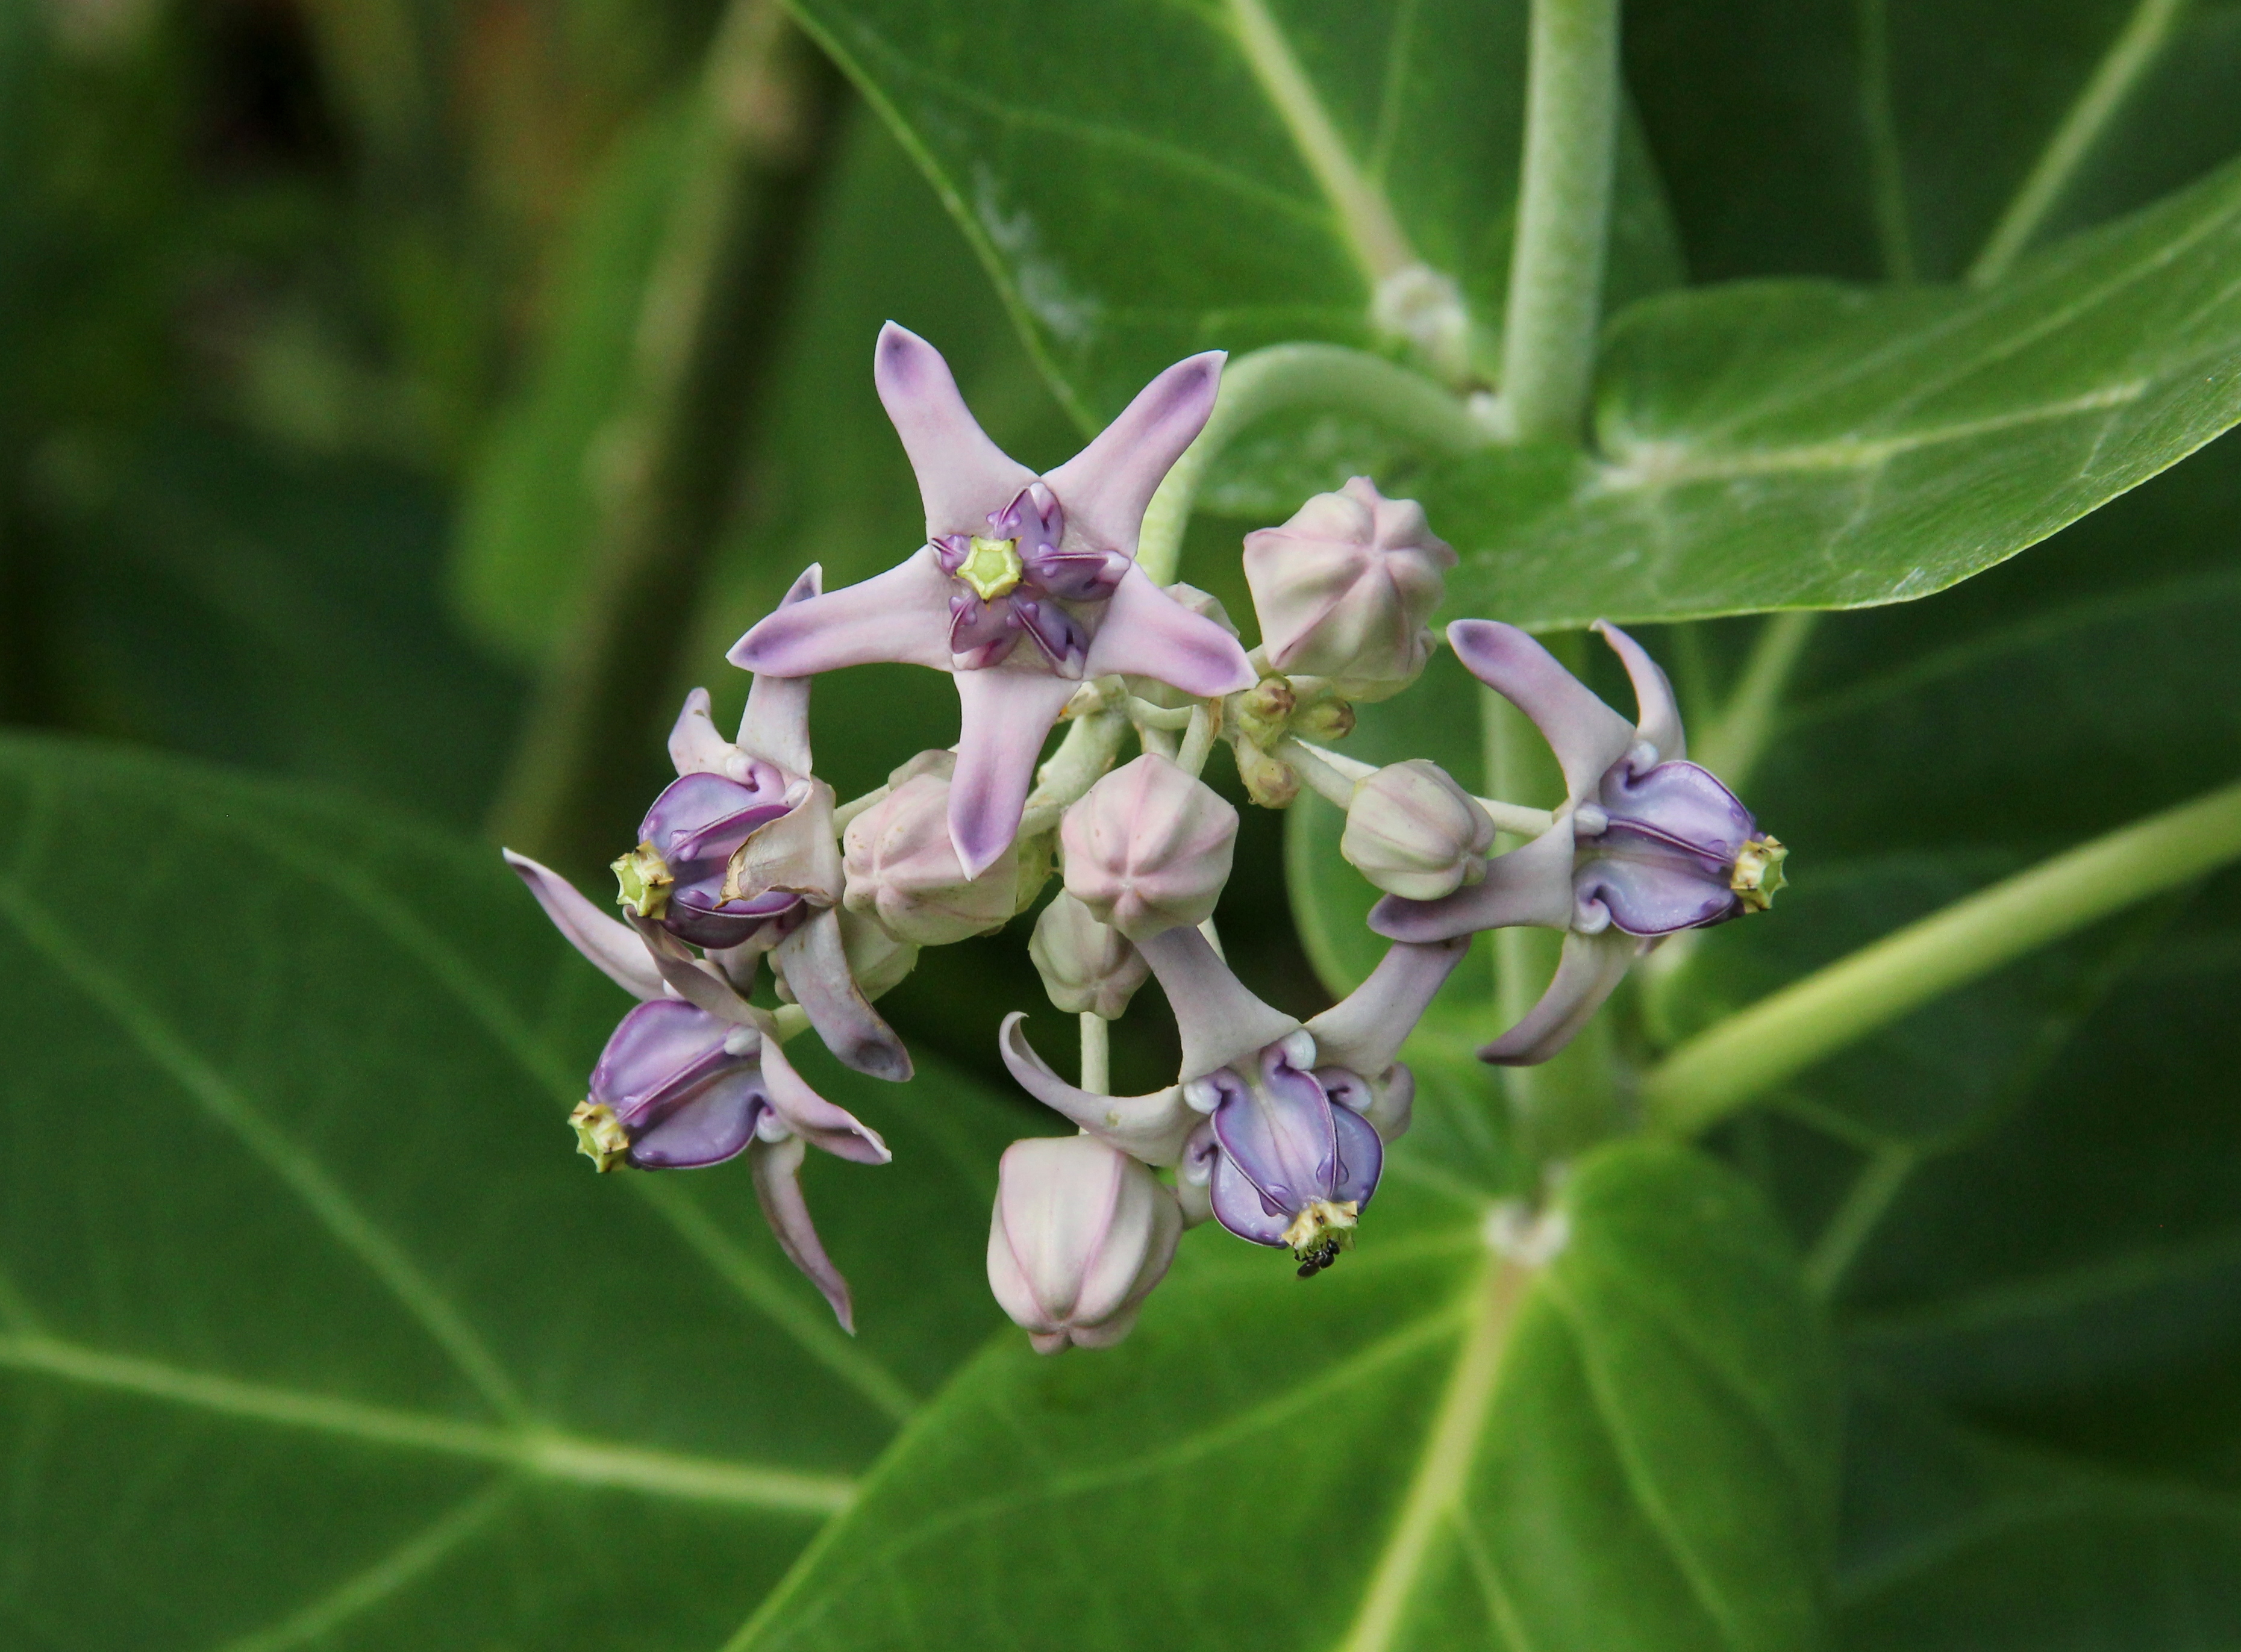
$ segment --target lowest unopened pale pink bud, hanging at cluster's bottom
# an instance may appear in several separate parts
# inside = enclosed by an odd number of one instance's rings
[[[1174,1260],[1183,1210],[1096,1136],[1015,1141],[997,1168],[988,1287],[1038,1354],[1112,1347]]]

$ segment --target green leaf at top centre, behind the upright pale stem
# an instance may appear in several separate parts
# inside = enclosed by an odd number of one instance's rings
[[[1371,296],[1414,262],[1459,285],[1472,361],[1493,352],[1524,4],[800,11],[919,157],[1085,426],[1194,350],[1394,347]],[[1609,298],[1676,276],[1629,141]]]

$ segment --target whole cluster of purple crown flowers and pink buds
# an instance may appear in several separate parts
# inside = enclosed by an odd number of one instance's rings
[[[1212,596],[1154,583],[1136,560],[1143,513],[1212,412],[1221,363],[1177,363],[1038,475],[982,433],[932,345],[890,323],[874,383],[917,471],[926,540],[858,585],[827,592],[813,567],[796,581],[728,655],[753,672],[733,737],[692,690],[670,735],[677,780],[614,861],[612,910],[506,856],[641,1000],[571,1119],[580,1152],[598,1170],[744,1154],[778,1242],[843,1325],[849,1289],[798,1170],[811,1145],[865,1166],[890,1154],[784,1045],[813,1031],[858,1074],[908,1080],[874,1002],[923,948],[1040,901],[1026,946],[1051,1004],[1078,1018],[1078,1071],[1029,1042],[1024,1011],[1004,1020],[999,1056],[1078,1134],[1002,1157],[988,1282],[1058,1352],[1127,1336],[1188,1226],[1282,1251],[1302,1278],[1351,1249],[1414,1110],[1401,1047],[1475,935],[1564,932],[1540,1002],[1481,1051],[1537,1062],[1647,948],[1764,910],[1782,885],[1782,843],[1687,762],[1665,675],[1611,625],[1598,630],[1634,684],[1631,720],[1513,625],[1445,628],[1549,740],[1566,787],[1553,809],[1477,798],[1421,758],[1371,767],[1329,749],[1356,704],[1423,675],[1457,558],[1414,502],[1354,477],[1246,536],[1250,650]],[[843,805],[811,764],[809,686],[874,661],[948,672],[959,740]],[[1345,809],[1340,852],[1383,892],[1369,915],[1383,962],[1307,1020],[1221,957],[1239,816],[1203,778],[1217,746],[1262,807],[1315,791]],[[1109,1094],[1105,1029],[1154,980],[1181,1031],[1174,1083]]]

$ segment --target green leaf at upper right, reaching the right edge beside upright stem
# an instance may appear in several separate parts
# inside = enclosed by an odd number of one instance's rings
[[[1862,607],[2044,540],[2241,421],[2241,166],[1981,291],[1746,282],[1609,330],[1596,460],[1412,482],[1452,612]]]

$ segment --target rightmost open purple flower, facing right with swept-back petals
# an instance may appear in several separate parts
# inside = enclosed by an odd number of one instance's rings
[[[1434,941],[1508,924],[1566,930],[1555,980],[1517,1027],[1479,1051],[1531,1065],[1571,1042],[1627,968],[1661,937],[1761,912],[1788,850],[1759,832],[1728,787],[1685,760],[1672,684],[1616,625],[1598,632],[1625,661],[1629,724],[1515,625],[1459,619],[1448,641],[1470,672],[1524,711],[1564,771],[1564,805],[1486,879],[1436,901],[1387,894],[1369,928]]]

